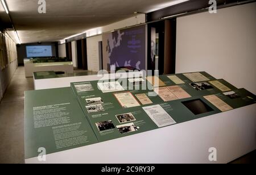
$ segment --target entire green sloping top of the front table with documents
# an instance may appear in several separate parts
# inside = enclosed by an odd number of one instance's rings
[[[40,74],[39,74],[40,75]],[[41,76],[44,76],[43,74]],[[255,95],[205,72],[73,82],[25,94],[25,157],[118,139],[255,103]]]

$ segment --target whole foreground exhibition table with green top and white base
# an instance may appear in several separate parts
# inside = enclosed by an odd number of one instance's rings
[[[26,91],[25,162],[228,163],[256,148],[249,91],[205,72],[134,77],[66,77]]]

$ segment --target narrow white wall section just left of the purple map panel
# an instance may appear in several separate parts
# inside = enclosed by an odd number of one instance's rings
[[[98,72],[100,70],[98,42],[102,41],[102,35],[86,39],[88,70]]]

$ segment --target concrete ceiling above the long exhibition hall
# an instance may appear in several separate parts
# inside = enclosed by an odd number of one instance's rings
[[[134,11],[150,12],[176,2],[175,0],[46,0],[46,14],[39,14],[38,0],[6,0],[21,43],[59,41],[90,28],[130,18],[134,16]],[[0,22],[6,23],[8,19],[0,5]]]

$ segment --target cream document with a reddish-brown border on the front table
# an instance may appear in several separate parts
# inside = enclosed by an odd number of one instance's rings
[[[114,95],[123,108],[141,106],[139,105],[139,102],[133,97],[133,94],[131,94],[130,92],[117,93]]]

